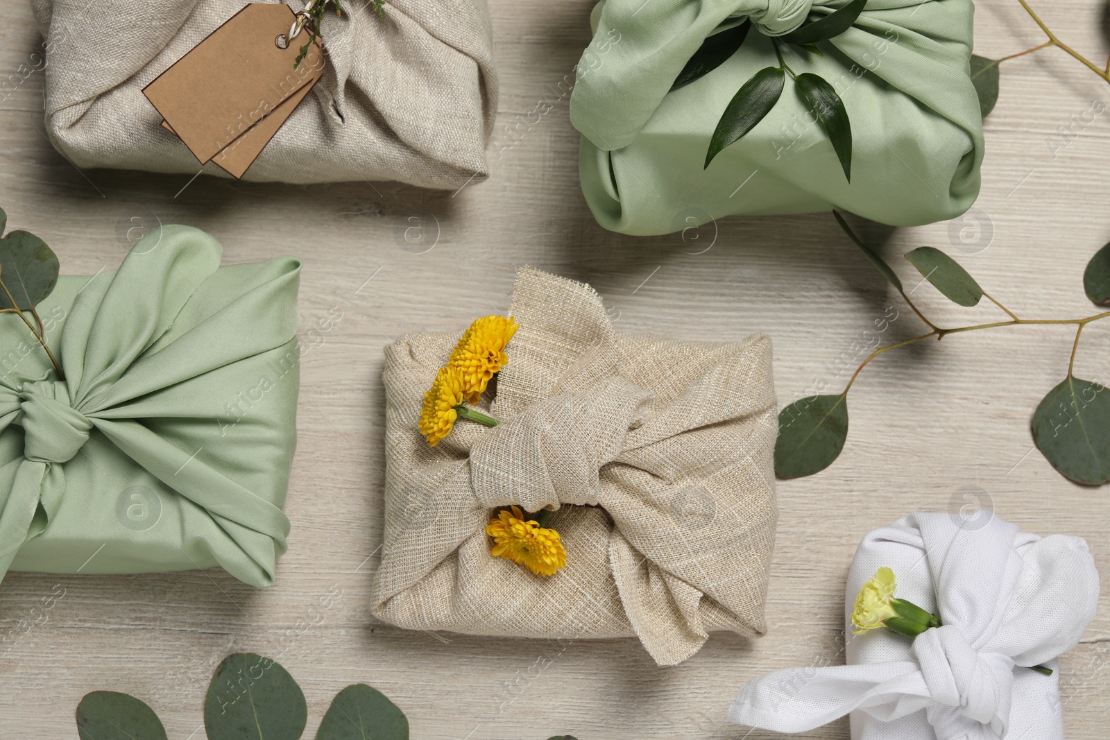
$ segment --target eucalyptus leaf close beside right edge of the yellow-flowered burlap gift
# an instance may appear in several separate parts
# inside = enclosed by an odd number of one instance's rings
[[[848,403],[838,396],[796,401],[778,415],[775,473],[800,478],[820,473],[837,458],[848,438]]]

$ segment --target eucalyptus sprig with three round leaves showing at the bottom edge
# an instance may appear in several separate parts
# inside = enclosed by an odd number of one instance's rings
[[[299,740],[307,723],[304,692],[280,663],[253,652],[223,659],[204,700],[209,740]],[[81,740],[167,740],[144,701],[115,691],[87,693],[77,708]],[[316,740],[408,740],[408,719],[384,693],[354,683],[335,695]],[[549,740],[575,740],[568,734]]]

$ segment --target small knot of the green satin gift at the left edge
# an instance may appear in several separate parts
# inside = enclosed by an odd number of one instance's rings
[[[65,383],[24,383],[19,397],[23,457],[34,463],[67,463],[72,459],[89,439],[92,423],[70,405]]]

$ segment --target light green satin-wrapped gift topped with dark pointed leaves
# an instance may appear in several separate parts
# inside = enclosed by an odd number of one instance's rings
[[[856,24],[785,52],[828,80],[852,128],[851,184],[794,82],[771,112],[703,170],[728,102],[778,65],[768,36],[847,0],[604,0],[577,67],[571,121],[594,216],[627,234],[665,234],[731,214],[842,209],[910,226],[952,219],[979,193],[982,119],[969,78],[971,0],[870,0]],[[670,91],[706,37],[750,18],[740,50]]]

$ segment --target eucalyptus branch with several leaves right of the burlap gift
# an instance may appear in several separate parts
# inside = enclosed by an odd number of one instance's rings
[[[844,217],[834,212],[837,223],[894,285],[929,332],[902,342],[878,347],[860,363],[844,391],[836,395],[815,395],[787,405],[778,415],[778,438],[775,442],[775,473],[781,478],[798,478],[824,470],[840,455],[848,437],[848,391],[859,373],[882,353],[922,339],[938,341],[949,334],[1025,326],[1031,324],[1070,325],[1076,327],[1076,341],[1068,361],[1068,373],[1037,406],[1032,417],[1032,435],[1046,459],[1064,477],[1089,486],[1110,481],[1110,393],[1093,381],[1074,376],[1076,353],[1083,328],[1110,317],[1110,311],[1082,318],[1020,318],[982,290],[959,263],[940,250],[918,247],[906,259],[941,295],[953,303],[971,307],[987,298],[1008,316],[1008,321],[941,328],[929,321],[909,295],[890,266],[864,244]],[[1083,274],[1083,288],[1096,305],[1110,305],[1110,244],[1099,250]]]

